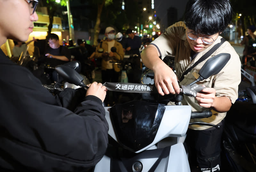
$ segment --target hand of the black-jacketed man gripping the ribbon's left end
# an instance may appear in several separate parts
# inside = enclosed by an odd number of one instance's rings
[[[89,85],[85,96],[96,96],[103,102],[106,97],[106,91],[107,89],[105,86],[102,86],[102,83],[92,82],[92,84]]]

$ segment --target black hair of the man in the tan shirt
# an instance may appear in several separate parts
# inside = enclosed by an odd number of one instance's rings
[[[226,29],[232,15],[229,0],[189,0],[184,22],[197,34],[214,35]]]

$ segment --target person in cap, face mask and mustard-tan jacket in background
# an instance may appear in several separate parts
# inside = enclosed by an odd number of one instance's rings
[[[118,82],[121,74],[120,66],[111,63],[111,61],[118,61],[124,59],[124,51],[121,43],[115,40],[116,31],[113,27],[105,29],[106,39],[102,40],[96,48],[95,59],[101,58],[101,78],[102,83]],[[112,52],[111,48],[116,47],[116,52]],[[107,93],[105,103],[112,104],[110,93]],[[113,95],[115,97],[115,95]]]

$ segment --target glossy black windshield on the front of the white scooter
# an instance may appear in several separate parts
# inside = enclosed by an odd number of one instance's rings
[[[151,144],[163,118],[165,107],[159,103],[134,100],[110,108],[110,118],[121,145],[137,152]]]

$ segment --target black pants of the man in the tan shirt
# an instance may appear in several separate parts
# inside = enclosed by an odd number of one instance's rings
[[[188,129],[185,142],[188,145],[188,160],[191,172],[195,171],[193,168],[197,166],[199,167],[198,171],[202,172],[220,171],[222,122],[218,125],[220,125],[220,129]]]

